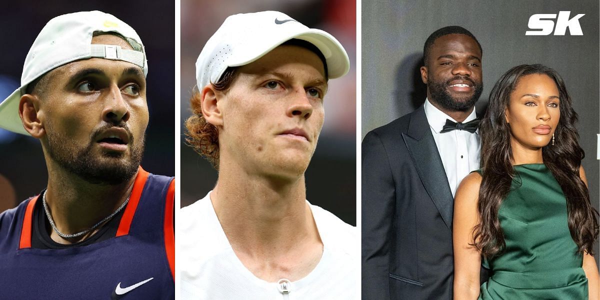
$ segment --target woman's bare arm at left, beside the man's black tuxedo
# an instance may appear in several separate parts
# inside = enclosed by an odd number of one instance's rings
[[[475,300],[479,297],[481,253],[473,244],[473,227],[479,223],[477,202],[481,175],[467,175],[454,199],[452,241],[454,243],[454,300]]]

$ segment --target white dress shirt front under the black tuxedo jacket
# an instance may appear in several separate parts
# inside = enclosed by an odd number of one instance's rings
[[[425,100],[425,116],[427,116],[433,139],[436,141],[437,151],[440,158],[442,158],[448,184],[452,191],[452,197],[454,197],[463,178],[473,170],[479,169],[479,152],[481,151],[479,129],[475,133],[469,133],[465,130],[440,133],[444,124],[446,124],[446,119],[452,122],[457,121],[433,106],[428,99]],[[475,109],[473,109],[463,123],[476,117]]]

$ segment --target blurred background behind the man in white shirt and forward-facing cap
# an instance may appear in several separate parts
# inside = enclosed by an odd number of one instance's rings
[[[227,16],[276,10],[334,35],[350,56],[350,72],[329,82],[325,125],[306,172],[307,199],[356,225],[356,3],[342,0],[181,1],[181,207],[206,196],[217,172],[185,145],[196,59]],[[268,32],[266,32],[267,34]]]

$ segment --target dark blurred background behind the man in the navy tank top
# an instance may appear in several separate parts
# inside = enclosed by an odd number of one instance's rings
[[[175,175],[175,3],[170,1],[5,1],[0,10],[0,101],[20,86],[23,62],[41,28],[53,17],[100,10],[136,29],[148,56],[146,151],[148,172]],[[82,107],[85,113],[85,107]],[[0,129],[0,211],[47,184],[40,142]]]

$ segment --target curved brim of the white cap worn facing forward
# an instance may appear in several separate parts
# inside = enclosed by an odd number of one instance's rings
[[[278,41],[257,43],[268,45],[268,47],[256,49],[254,53],[246,52],[247,55],[245,55],[245,58],[241,58],[238,61],[230,61],[228,65],[229,67],[238,67],[240,65],[250,64],[292,38],[308,41],[308,43],[313,44],[321,51],[321,53],[323,53],[325,61],[327,62],[327,71],[330,79],[344,76],[350,70],[350,59],[340,42],[331,34],[314,28],[302,32],[295,32]]]

